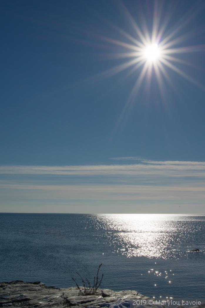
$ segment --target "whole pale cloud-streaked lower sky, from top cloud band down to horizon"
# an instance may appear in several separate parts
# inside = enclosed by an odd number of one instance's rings
[[[205,162],[0,166],[0,192],[2,212],[203,214]]]

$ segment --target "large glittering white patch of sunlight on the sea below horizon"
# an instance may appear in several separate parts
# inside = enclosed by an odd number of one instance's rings
[[[96,215],[96,225],[104,229],[111,253],[167,259],[187,254],[188,241],[200,235],[200,224],[193,229],[193,219],[162,214]]]

